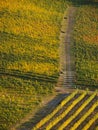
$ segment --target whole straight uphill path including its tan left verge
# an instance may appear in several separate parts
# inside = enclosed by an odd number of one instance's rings
[[[72,30],[74,25],[74,15],[76,7],[69,7],[62,21],[60,34],[60,77],[57,91],[71,89],[74,83],[74,60],[71,54]],[[62,88],[63,86],[63,88]]]

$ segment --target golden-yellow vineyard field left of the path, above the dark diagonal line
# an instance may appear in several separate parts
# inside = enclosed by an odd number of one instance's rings
[[[64,1],[15,1],[13,5],[11,2],[1,2],[0,66],[39,73],[47,73],[51,66],[51,73],[54,69],[58,73],[58,35],[66,8],[62,9]],[[49,59],[49,65],[46,59]],[[40,72],[38,69],[43,66],[44,71]]]

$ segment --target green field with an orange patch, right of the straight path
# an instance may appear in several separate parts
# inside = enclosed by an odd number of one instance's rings
[[[77,9],[72,52],[76,84],[98,88],[98,5],[84,4]]]

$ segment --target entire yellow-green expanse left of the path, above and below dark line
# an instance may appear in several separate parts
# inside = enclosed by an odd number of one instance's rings
[[[65,0],[0,1],[0,130],[9,130],[53,92],[49,81],[59,73],[66,6]]]

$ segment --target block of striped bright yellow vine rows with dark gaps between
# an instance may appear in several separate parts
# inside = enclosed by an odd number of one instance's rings
[[[98,92],[69,94],[32,130],[97,130]]]

